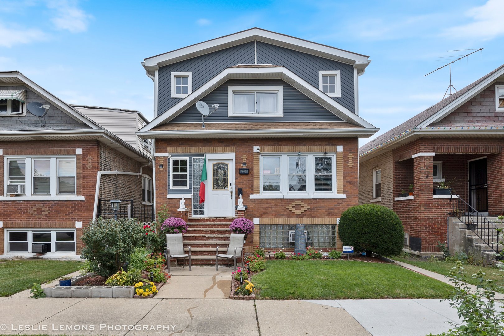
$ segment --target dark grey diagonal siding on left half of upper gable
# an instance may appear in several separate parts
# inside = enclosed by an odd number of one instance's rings
[[[186,59],[163,66],[158,71],[158,115],[183,98],[171,98],[171,73],[193,72],[193,91],[226,68],[237,64],[254,64],[254,42]]]

